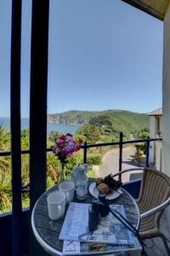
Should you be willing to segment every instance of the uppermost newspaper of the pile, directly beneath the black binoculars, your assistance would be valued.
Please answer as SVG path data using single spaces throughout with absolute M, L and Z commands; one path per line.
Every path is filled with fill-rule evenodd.
M 59 234 L 59 239 L 69 241 L 105 242 L 115 244 L 133 244 L 133 236 L 127 228 L 110 213 L 101 218 L 98 229 L 88 232 L 89 204 L 71 202 L 66 212 L 65 221 Z M 122 205 L 111 205 L 112 209 L 126 217 Z M 112 227 L 112 230 L 111 230 Z

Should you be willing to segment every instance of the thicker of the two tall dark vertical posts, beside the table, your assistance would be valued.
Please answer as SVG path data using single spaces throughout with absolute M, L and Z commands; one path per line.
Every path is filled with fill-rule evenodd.
M 30 207 L 46 190 L 49 0 L 32 1 L 30 86 Z M 31 222 L 30 222 L 31 223 Z M 47 255 L 30 227 L 30 256 Z

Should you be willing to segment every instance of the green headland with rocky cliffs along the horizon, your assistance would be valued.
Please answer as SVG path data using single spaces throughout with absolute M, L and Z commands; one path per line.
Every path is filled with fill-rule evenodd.
M 48 114 L 48 122 L 82 125 L 98 116 L 108 117 L 115 130 L 122 131 L 126 134 L 132 131 L 139 131 L 142 128 L 149 128 L 149 117 L 146 113 L 134 113 L 117 109 L 105 111 L 71 110 L 64 113 L 53 113 Z

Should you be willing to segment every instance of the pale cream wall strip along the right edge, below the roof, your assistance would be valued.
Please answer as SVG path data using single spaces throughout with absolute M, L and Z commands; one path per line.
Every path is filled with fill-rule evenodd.
M 164 20 L 162 88 L 162 172 L 170 176 L 170 5 Z

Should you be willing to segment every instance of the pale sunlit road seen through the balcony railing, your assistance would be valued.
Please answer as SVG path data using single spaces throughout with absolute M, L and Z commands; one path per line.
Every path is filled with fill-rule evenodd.
M 133 156 L 135 153 L 135 148 L 123 148 L 122 151 L 122 170 L 127 168 L 133 168 L 135 166 L 138 166 L 133 161 Z M 95 176 L 96 177 L 105 177 L 106 175 L 112 173 L 116 173 L 119 170 L 119 148 L 114 148 L 110 151 L 108 151 L 104 157 L 103 157 L 103 164 L 95 169 Z M 130 176 L 131 175 L 131 176 Z M 138 172 L 132 172 L 130 173 L 124 173 L 122 175 L 122 182 L 127 182 L 130 179 L 135 179 L 140 177 L 139 171 Z

